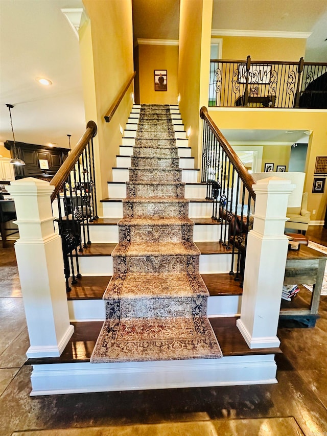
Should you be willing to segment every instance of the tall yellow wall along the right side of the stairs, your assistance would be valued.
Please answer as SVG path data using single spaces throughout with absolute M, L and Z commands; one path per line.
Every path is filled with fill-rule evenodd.
M 185 130 L 191 128 L 189 146 L 200 162 L 199 111 L 207 105 L 212 22 L 212 0 L 180 0 L 178 93 Z

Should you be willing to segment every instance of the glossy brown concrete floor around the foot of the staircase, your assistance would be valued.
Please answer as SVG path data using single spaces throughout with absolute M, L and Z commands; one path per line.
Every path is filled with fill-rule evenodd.
M 307 236 L 327 246 L 322 227 Z M 0 249 L 0 435 L 33 429 L 55 429 L 46 432 L 51 435 L 327 435 L 327 296 L 319 314 L 313 329 L 294 322 L 279 328 L 278 384 L 31 398 L 28 334 L 10 244 Z

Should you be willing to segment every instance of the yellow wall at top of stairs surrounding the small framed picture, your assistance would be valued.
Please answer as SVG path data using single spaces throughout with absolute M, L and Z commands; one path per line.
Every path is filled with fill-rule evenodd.
M 154 90 L 154 70 L 167 70 L 167 91 Z M 141 104 L 177 104 L 178 45 L 138 46 Z

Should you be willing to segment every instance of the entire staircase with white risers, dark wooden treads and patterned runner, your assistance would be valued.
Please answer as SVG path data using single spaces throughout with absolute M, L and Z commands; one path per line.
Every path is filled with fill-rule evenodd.
M 276 382 L 279 350 L 250 350 L 236 327 L 242 289 L 178 106 L 146 112 L 133 106 L 89 223 L 67 295 L 75 333 L 59 358 L 29 359 L 31 395 Z

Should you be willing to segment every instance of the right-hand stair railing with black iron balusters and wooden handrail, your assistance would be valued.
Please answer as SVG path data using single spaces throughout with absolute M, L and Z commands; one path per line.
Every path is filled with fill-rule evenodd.
M 219 242 L 232 255 L 229 274 L 242 285 L 255 181 L 204 106 L 200 117 L 204 121 L 201 182 L 207 185 L 206 199 L 212 201 L 212 218 L 221 222 Z

